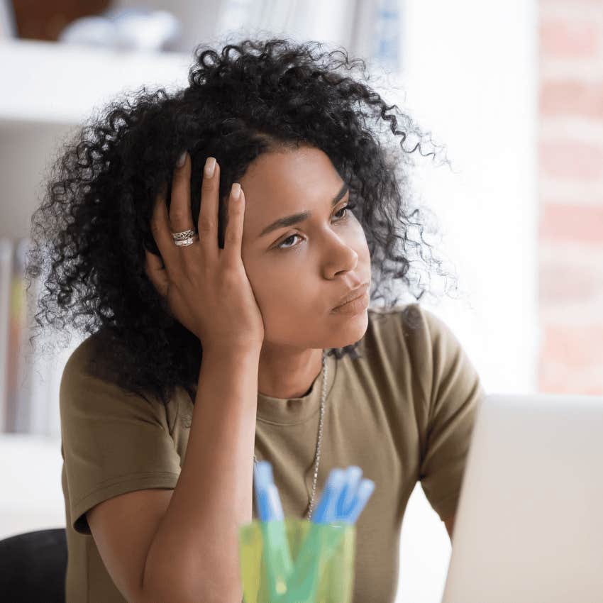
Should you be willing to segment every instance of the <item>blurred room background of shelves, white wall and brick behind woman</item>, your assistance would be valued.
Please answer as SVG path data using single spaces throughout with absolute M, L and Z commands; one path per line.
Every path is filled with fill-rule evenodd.
M 65 526 L 58 386 L 80 340 L 33 353 L 22 278 L 60 143 L 118 94 L 186 86 L 198 43 L 258 33 L 362 57 L 387 101 L 446 146 L 453 169 L 417 160 L 412 177 L 460 294 L 421 304 L 487 392 L 603 394 L 603 0 L 4 0 L 0 538 Z M 397 602 L 439 602 L 449 558 L 418 485 Z

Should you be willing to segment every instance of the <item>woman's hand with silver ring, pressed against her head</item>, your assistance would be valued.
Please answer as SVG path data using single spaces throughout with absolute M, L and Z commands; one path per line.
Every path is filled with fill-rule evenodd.
M 234 183 L 228 199 L 224 248 L 218 247 L 218 190 L 220 167 L 213 175 L 208 157 L 201 184 L 199 240 L 179 247 L 172 232 L 194 228 L 190 205 L 191 160 L 186 153 L 182 167 L 175 167 L 170 214 L 165 194 L 158 194 L 151 231 L 160 258 L 145 249 L 145 272 L 175 318 L 194 333 L 204 348 L 258 345 L 264 339 L 264 323 L 241 259 L 245 195 Z M 237 189 L 240 191 L 235 198 Z

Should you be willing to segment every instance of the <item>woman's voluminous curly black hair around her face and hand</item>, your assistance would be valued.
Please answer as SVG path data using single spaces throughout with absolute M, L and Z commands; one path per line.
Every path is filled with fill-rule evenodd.
M 169 192 L 183 150 L 192 159 L 193 216 L 206 157 L 221 165 L 220 248 L 223 201 L 250 162 L 269 150 L 313 145 L 350 187 L 370 249 L 372 300 L 397 304 L 397 279 L 417 300 L 423 296 L 419 272 L 410 272 L 413 250 L 446 276 L 441 260 L 424 253 L 431 251 L 426 225 L 410 202 L 410 154 L 436 153 L 424 154 L 426 135 L 367 84 L 364 60 L 350 60 L 341 47 L 282 38 L 245 39 L 221 52 L 199 45 L 194 59 L 186 88 L 126 94 L 60 149 L 32 216 L 25 270 L 26 280 L 45 275 L 31 340 L 45 325 L 102 336 L 106 374 L 164 404 L 178 385 L 192 392 L 202 358 L 199 339 L 169 314 L 144 270 L 145 248 L 160 255 L 150 231 L 153 201 Z M 419 142 L 406 149 L 409 135 Z M 414 227 L 420 240 L 411 236 Z M 358 343 L 329 353 L 356 358 Z

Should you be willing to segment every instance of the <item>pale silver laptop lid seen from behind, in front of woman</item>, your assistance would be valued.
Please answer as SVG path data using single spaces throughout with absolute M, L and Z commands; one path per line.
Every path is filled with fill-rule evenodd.
M 442 603 L 603 602 L 603 397 L 489 394 Z

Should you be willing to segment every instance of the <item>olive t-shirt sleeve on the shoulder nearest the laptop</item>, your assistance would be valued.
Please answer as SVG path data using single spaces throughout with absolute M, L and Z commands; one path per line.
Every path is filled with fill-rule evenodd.
M 421 487 L 440 519 L 456 514 L 477 411 L 485 397 L 475 367 L 453 331 L 422 309 L 431 339 L 431 394 Z

